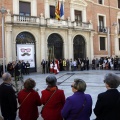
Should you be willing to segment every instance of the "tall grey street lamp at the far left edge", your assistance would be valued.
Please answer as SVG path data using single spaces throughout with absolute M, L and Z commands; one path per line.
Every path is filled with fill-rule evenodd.
M 5 31 L 4 31 L 4 14 L 7 12 L 7 10 L 2 6 L 0 9 L 0 12 L 2 14 L 2 54 L 3 54 L 3 73 L 5 73 Z

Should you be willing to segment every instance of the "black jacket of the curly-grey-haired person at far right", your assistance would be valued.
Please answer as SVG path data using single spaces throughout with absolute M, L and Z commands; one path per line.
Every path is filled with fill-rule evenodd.
M 100 93 L 94 108 L 96 120 L 120 120 L 120 93 L 109 89 Z

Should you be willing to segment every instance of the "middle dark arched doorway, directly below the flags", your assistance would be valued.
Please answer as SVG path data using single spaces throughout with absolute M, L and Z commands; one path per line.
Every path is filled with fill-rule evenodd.
M 48 59 L 63 58 L 63 40 L 59 34 L 53 33 L 48 37 Z

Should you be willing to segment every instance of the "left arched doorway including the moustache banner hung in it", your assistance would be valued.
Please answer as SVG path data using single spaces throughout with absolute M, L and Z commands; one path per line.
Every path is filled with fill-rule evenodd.
M 30 71 L 36 72 L 35 38 L 29 32 L 21 32 L 16 37 L 17 60 L 30 63 Z

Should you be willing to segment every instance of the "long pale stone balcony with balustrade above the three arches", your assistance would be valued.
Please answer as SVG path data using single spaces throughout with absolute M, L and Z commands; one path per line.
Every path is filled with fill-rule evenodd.
M 38 25 L 53 28 L 73 28 L 90 30 L 92 29 L 92 24 L 86 22 L 70 21 L 68 20 L 56 20 L 56 19 L 45 19 L 41 14 L 40 17 L 34 16 L 21 16 L 21 15 L 6 15 L 5 23 L 13 24 L 27 24 L 27 25 Z

